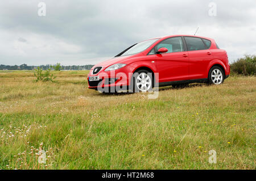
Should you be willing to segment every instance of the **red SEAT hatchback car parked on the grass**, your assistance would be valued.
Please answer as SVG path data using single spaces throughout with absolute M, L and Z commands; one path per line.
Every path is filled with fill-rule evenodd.
M 148 91 L 195 82 L 220 85 L 229 73 L 228 55 L 213 39 L 172 35 L 132 45 L 94 65 L 87 79 L 89 89 Z

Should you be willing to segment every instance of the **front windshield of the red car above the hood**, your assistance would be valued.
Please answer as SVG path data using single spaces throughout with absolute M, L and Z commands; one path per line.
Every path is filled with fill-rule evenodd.
M 157 40 L 159 40 L 159 39 L 151 39 L 151 40 L 142 41 L 140 43 L 137 43 L 137 44 L 127 48 L 123 52 L 119 53 L 117 56 L 125 56 L 128 54 L 135 54 L 135 53 L 142 52 L 143 50 L 150 47 L 150 45 L 155 43 L 155 41 L 157 41 Z

